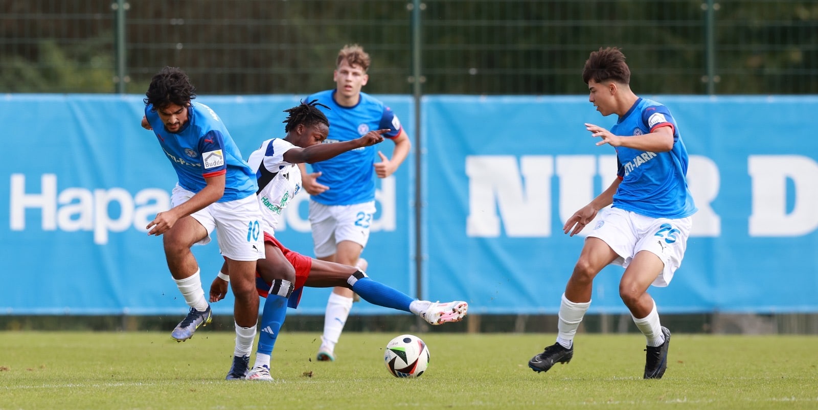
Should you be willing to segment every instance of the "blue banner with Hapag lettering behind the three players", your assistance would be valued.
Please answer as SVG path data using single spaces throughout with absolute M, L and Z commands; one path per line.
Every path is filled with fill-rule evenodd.
M 383 96 L 412 133 L 411 98 Z M 208 97 L 243 155 L 263 140 L 283 137 L 283 110 L 295 96 Z M 185 313 L 164 260 L 161 237 L 146 225 L 169 209 L 176 182 L 153 133 L 140 127 L 142 96 L 6 95 L 0 119 L 9 154 L 0 169 L 2 259 L 0 313 L 160 314 Z M 380 150 L 391 155 L 393 144 Z M 372 277 L 411 293 L 410 156 L 392 177 L 380 181 L 378 213 L 364 257 Z M 290 249 L 312 255 L 308 196 L 299 198 L 276 237 Z M 205 292 L 221 267 L 215 241 L 194 246 Z M 291 313 L 322 314 L 328 289 L 304 291 Z M 382 313 L 361 304 L 355 312 Z M 232 313 L 232 298 L 213 304 Z

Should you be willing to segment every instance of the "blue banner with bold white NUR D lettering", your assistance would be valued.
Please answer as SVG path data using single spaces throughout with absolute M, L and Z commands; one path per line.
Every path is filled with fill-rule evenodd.
M 690 154 L 694 215 L 660 313 L 818 310 L 816 97 L 651 97 Z M 613 148 L 587 97 L 425 97 L 426 288 L 473 313 L 556 313 L 582 235 L 564 221 L 613 182 Z M 596 278 L 591 313 L 624 313 L 622 268 Z

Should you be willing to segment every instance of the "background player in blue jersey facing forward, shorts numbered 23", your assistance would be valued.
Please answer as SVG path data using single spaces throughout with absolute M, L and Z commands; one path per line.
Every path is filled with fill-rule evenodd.
M 350 141 L 380 128 L 390 128 L 384 137 L 395 143 L 391 159 L 374 146 L 367 146 L 312 164 L 313 173 L 307 173 L 300 165 L 304 171 L 304 190 L 310 194 L 309 221 L 315 256 L 350 266 L 359 264 L 369 240 L 375 214 L 375 178 L 392 175 L 411 148 L 409 137 L 392 110 L 361 92 L 369 80 L 366 74 L 369 65 L 369 54 L 362 47 L 344 46 L 335 61 L 335 88 L 306 99 L 317 99 L 330 107 L 326 116 L 332 127 L 324 143 Z M 352 305 L 353 291 L 345 287 L 333 289 L 326 303 L 318 360 L 335 360 L 335 344 L 344 331 Z

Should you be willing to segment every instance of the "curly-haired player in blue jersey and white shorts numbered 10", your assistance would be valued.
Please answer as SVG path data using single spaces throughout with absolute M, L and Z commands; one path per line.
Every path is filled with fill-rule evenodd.
M 156 135 L 176 171 L 170 210 L 156 214 L 149 235 L 162 235 L 164 255 L 179 291 L 191 307 L 171 337 L 184 341 L 212 317 L 191 246 L 205 245 L 216 229 L 219 249 L 230 266 L 236 295 L 234 366 L 249 361 L 258 321 L 256 260 L 264 258 L 262 214 L 255 198 L 255 173 L 242 160 L 222 120 L 193 102 L 196 88 L 184 71 L 165 67 L 145 93 L 142 127 Z

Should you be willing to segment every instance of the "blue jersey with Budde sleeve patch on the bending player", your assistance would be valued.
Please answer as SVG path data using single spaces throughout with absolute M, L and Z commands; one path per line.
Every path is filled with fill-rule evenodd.
M 227 128 L 209 106 L 191 102 L 187 109 L 187 123 L 178 133 L 170 133 L 164 128 L 162 119 L 151 105 L 145 107 L 145 117 L 176 170 L 180 187 L 199 192 L 207 185 L 205 178 L 226 174 L 224 195 L 218 202 L 255 194 L 258 189 L 255 173 L 241 159 Z

